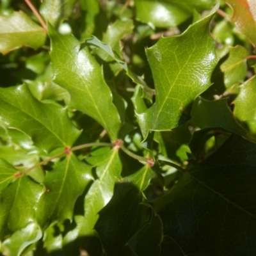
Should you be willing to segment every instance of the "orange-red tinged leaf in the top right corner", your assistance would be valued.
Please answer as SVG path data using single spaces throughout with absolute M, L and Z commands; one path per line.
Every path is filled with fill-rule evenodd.
M 238 31 L 256 44 L 256 3 L 253 0 L 227 0 L 233 10 L 232 20 Z

